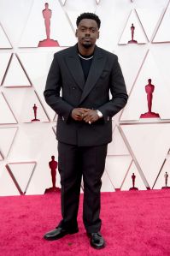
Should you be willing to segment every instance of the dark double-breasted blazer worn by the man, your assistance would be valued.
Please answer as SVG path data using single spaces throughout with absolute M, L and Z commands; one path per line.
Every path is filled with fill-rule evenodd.
M 78 146 L 107 144 L 112 140 L 112 116 L 126 105 L 128 98 L 118 57 L 96 45 L 85 81 L 77 45 L 56 52 L 44 98 L 58 114 L 57 140 Z M 74 121 L 71 112 L 78 107 L 100 110 L 103 118 L 91 124 Z

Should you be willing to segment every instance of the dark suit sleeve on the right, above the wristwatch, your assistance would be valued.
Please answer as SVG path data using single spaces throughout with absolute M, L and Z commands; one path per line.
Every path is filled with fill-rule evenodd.
M 105 122 L 108 122 L 109 117 L 114 116 L 124 108 L 128 98 L 125 80 L 121 72 L 120 64 L 118 63 L 118 57 L 116 57 L 111 71 L 110 92 L 112 98 L 106 104 L 98 108 L 98 110 L 103 113 Z

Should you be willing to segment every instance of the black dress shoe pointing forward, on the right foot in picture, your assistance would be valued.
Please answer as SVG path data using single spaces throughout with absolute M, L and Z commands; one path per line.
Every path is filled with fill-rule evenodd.
M 90 237 L 91 247 L 95 249 L 102 249 L 105 247 L 105 241 L 103 239 L 103 236 L 100 234 L 100 232 L 97 233 L 88 233 L 87 234 Z

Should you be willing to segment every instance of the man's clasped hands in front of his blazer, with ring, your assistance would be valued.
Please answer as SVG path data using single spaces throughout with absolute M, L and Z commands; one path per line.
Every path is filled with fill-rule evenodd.
M 72 118 L 75 121 L 96 122 L 99 119 L 96 110 L 76 108 L 72 110 Z

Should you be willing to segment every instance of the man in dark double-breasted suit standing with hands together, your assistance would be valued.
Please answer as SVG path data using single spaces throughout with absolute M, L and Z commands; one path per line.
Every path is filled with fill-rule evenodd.
M 44 238 L 56 240 L 79 231 L 83 176 L 83 221 L 91 247 L 100 249 L 105 246 L 99 217 L 101 177 L 112 140 L 112 116 L 125 106 L 127 94 L 117 57 L 95 45 L 98 16 L 84 13 L 76 24 L 78 44 L 55 54 L 44 91 L 46 102 L 58 114 L 56 139 L 62 185 L 62 221 Z

